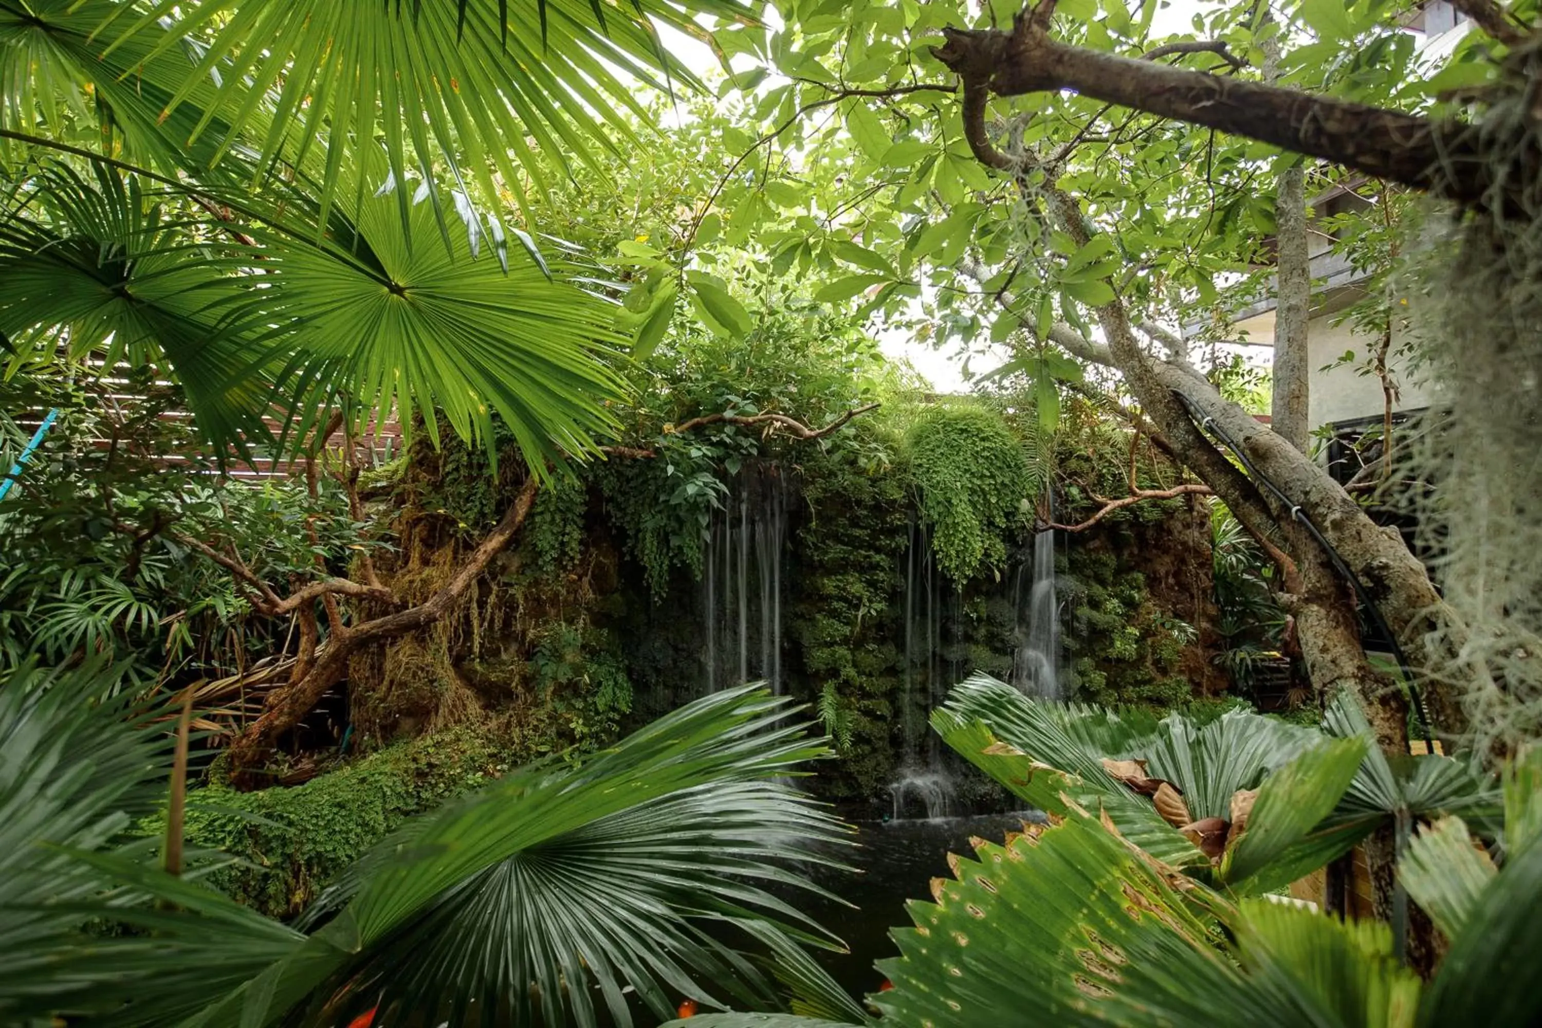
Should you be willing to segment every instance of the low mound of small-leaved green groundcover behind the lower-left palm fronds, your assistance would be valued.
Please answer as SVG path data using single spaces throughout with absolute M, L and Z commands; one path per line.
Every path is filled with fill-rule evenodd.
M 188 795 L 187 842 L 241 862 L 211 875 L 216 888 L 271 917 L 290 917 L 406 818 L 529 757 L 518 738 L 466 727 L 396 743 L 290 789 L 210 784 Z M 145 829 L 159 834 L 163 826 Z

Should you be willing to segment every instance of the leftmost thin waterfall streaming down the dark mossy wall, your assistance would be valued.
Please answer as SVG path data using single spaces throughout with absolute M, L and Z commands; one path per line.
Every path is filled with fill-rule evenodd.
M 706 692 L 763 680 L 782 694 L 785 550 L 785 482 L 774 467 L 746 467 L 702 536 Z

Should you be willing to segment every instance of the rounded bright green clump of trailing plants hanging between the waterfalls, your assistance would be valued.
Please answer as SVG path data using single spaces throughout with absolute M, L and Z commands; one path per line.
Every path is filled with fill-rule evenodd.
M 939 404 L 905 433 L 904 453 L 938 566 L 954 583 L 1007 559 L 1005 532 L 1032 510 L 1022 442 L 978 404 Z

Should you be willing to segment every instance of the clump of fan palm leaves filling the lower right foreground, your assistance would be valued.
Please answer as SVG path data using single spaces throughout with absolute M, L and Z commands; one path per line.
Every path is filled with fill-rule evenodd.
M 1372 814 L 1377 801 L 1366 797 L 1389 781 L 1386 761 L 1362 751 L 1368 729 L 1346 700 L 1326 726 L 1342 738 L 1317 746 L 1311 729 L 1271 727 L 1252 714 L 1224 715 L 1192 738 L 1177 715 L 1153 724 L 1030 701 L 985 680 L 956 690 L 934 720 L 964 755 L 1019 795 L 1047 798 L 1052 814 L 1004 845 L 978 842 L 973 860 L 951 860 L 954 877 L 933 883 L 933 902 L 910 905 L 914 928 L 893 932 L 901 956 L 880 962 L 893 989 L 870 997 L 880 1016 L 847 1023 L 975 1025 L 1035 1011 L 1089 1025 L 1434 1025 L 1463 1017 L 1474 1002 L 1493 1010 L 1494 1023 L 1537 1016 L 1534 991 L 1507 977 L 1534 932 L 1520 908 L 1542 866 L 1530 843 L 1536 751 L 1508 768 L 1502 788 L 1456 761 L 1419 758 L 1420 771 L 1400 775 L 1402 798 Z M 996 731 L 1035 757 L 993 741 Z M 1140 757 L 1099 757 L 1109 752 Z M 1362 752 L 1369 757 L 1357 769 Z M 1434 778 L 1453 783 L 1439 798 L 1406 784 Z M 1240 783 L 1257 786 L 1241 808 L 1232 791 Z M 1170 803 L 1231 814 L 1214 857 L 1201 860 L 1155 828 Z M 1400 879 L 1453 940 L 1428 983 L 1400 963 L 1385 923 L 1340 922 L 1268 892 L 1320 866 L 1345 832 L 1394 814 L 1406 823 L 1414 809 L 1423 828 L 1406 845 Z M 1499 869 L 1456 811 L 1502 845 Z M 1210 831 L 1175 835 L 1204 845 Z

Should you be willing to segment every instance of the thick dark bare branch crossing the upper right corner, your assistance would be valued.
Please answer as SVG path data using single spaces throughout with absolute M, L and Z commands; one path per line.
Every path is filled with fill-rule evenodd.
M 992 166 L 1001 165 L 992 157 L 988 140 L 975 131 L 971 109 L 982 114 L 992 92 L 1010 97 L 1075 89 L 1106 103 L 1257 139 L 1463 203 L 1482 203 L 1496 188 L 1479 134 L 1463 122 L 1069 46 L 1050 39 L 1047 22 L 1036 11 L 1019 15 L 1010 32 L 948 28 L 947 43 L 934 49 L 938 60 L 964 82 L 965 139 Z

